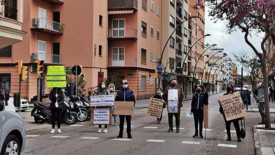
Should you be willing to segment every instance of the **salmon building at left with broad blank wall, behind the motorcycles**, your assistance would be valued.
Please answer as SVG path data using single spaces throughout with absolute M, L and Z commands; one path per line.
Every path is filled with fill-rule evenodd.
M 22 11 L 17 12 L 17 19 L 24 24 L 22 26 L 22 23 L 17 22 L 17 25 L 22 26 L 22 30 L 27 34 L 22 42 L 6 49 L 6 53 L 11 54 L 2 56 L 0 62 L 1 74 L 7 74 L 11 79 L 11 93 L 19 91 L 19 75 L 15 69 L 15 61 L 19 59 L 23 60 L 23 65 L 28 66 L 28 77 L 22 81 L 21 96 L 29 100 L 37 95 L 38 59 L 45 60 L 45 66 L 65 65 L 68 76 L 72 75 L 73 65 L 82 65 L 82 73 L 85 74 L 87 81 L 86 89 L 98 85 L 99 81 L 107 78 L 107 1 L 82 0 L 82 3 L 76 3 L 71 0 L 14 0 L 13 2 L 18 4 L 17 8 L 21 7 L 20 10 L 24 9 L 24 16 L 18 14 Z M 47 73 L 47 67 L 44 71 Z M 50 90 L 47 88 L 46 76 L 45 74 L 40 80 L 41 95 L 47 94 Z

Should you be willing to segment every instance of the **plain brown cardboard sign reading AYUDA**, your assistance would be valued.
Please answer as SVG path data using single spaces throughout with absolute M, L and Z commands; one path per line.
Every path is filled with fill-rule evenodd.
M 134 102 L 115 101 L 114 115 L 133 115 Z

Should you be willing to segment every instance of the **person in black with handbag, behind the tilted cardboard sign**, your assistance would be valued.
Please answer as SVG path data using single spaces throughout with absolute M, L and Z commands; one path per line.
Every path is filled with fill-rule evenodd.
M 227 93 L 225 93 L 223 95 L 232 94 L 234 92 L 232 84 L 228 84 L 226 86 L 226 91 L 227 91 Z M 225 118 L 223 109 L 222 109 L 222 105 L 220 105 L 219 111 L 222 114 L 224 121 L 225 121 L 225 127 L 226 127 L 226 132 L 227 132 L 227 141 L 231 141 L 230 126 L 231 126 L 231 122 L 233 122 L 233 125 L 236 130 L 236 134 L 237 134 L 237 141 L 242 142 L 241 137 L 240 137 L 240 125 L 239 125 L 239 121 L 242 120 L 242 117 L 227 121 Z

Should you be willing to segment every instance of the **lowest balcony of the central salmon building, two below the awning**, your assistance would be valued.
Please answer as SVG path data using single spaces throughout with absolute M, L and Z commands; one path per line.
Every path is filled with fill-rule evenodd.
M 136 58 L 108 58 L 107 67 L 137 67 Z

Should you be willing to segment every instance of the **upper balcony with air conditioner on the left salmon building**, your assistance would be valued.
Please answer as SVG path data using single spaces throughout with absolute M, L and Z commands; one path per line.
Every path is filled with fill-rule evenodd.
M 63 24 L 46 18 L 32 18 L 31 29 L 37 32 L 52 35 L 63 34 Z

